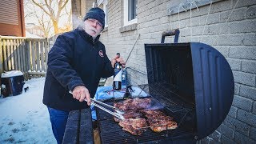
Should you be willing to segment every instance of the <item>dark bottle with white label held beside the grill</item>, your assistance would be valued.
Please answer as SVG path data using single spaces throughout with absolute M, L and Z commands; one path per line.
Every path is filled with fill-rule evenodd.
M 118 58 L 120 54 L 117 53 Z M 121 90 L 122 83 L 122 65 L 120 62 L 114 64 L 114 79 L 113 79 L 113 90 Z

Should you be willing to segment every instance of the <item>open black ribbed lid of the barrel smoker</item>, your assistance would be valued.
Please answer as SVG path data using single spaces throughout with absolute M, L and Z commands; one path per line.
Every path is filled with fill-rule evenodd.
M 226 118 L 234 98 L 234 78 L 226 58 L 200 42 L 145 44 L 145 52 L 149 86 L 166 81 L 168 74 L 164 70 L 176 73 L 170 86 L 176 95 L 171 97 L 183 97 L 193 103 L 195 138 L 212 134 Z M 166 65 L 170 68 L 163 68 Z

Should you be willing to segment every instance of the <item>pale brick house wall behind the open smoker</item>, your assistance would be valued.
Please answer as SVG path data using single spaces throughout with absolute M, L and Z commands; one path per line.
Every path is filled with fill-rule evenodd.
M 130 83 L 136 85 L 147 83 L 143 74 L 146 73 L 144 43 L 159 43 L 162 31 L 179 28 L 179 42 L 213 46 L 226 57 L 233 70 L 234 102 L 218 130 L 198 143 L 256 143 L 256 1 L 215 2 L 209 15 L 210 5 L 201 6 L 191 11 L 191 19 L 190 10 L 169 16 L 170 2 L 138 0 L 138 23 L 133 30 L 132 26 L 122 26 L 122 1 L 109 0 L 109 26 L 101 37 L 108 56 L 112 58 L 119 52 L 127 58 L 140 34 L 126 65 L 135 69 L 128 73 Z M 166 42 L 173 41 L 174 38 L 166 38 Z

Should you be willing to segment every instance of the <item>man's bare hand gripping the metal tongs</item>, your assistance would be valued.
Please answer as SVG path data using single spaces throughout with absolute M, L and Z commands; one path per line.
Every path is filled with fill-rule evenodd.
M 79 102 L 83 102 L 86 99 L 87 105 L 90 106 L 90 93 L 86 86 L 75 86 L 72 94 L 73 98 L 76 98 Z

